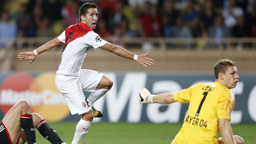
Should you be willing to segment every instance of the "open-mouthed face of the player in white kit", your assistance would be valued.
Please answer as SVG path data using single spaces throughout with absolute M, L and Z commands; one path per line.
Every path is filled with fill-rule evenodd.
M 98 20 L 98 10 L 96 8 L 89 8 L 85 16 L 85 24 L 91 29 L 95 29 Z

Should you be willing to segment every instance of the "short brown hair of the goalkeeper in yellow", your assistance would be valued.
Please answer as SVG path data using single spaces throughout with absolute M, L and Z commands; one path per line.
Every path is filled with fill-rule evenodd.
M 228 66 L 235 66 L 235 63 L 230 59 L 220 59 L 214 65 L 215 78 L 218 79 L 220 72 L 225 73 Z

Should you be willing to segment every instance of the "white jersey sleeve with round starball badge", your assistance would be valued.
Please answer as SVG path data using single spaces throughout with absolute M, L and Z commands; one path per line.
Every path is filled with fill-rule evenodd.
M 97 33 L 90 31 L 88 32 L 83 39 L 85 44 L 91 45 L 94 48 L 98 48 L 107 43 L 107 41 L 103 40 Z

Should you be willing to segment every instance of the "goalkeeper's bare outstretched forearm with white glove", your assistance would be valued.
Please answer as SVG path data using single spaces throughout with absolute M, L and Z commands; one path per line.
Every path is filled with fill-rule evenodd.
M 139 102 L 145 103 L 160 103 L 160 104 L 171 104 L 176 102 L 172 93 L 161 93 L 152 95 L 148 89 L 142 88 L 139 92 Z

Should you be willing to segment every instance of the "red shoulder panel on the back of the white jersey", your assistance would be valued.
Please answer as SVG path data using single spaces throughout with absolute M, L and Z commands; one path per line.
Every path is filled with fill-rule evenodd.
M 85 23 L 77 23 L 69 26 L 65 31 L 65 44 L 63 51 L 66 49 L 67 45 L 75 40 L 76 38 L 86 35 L 89 31 L 92 31 Z

